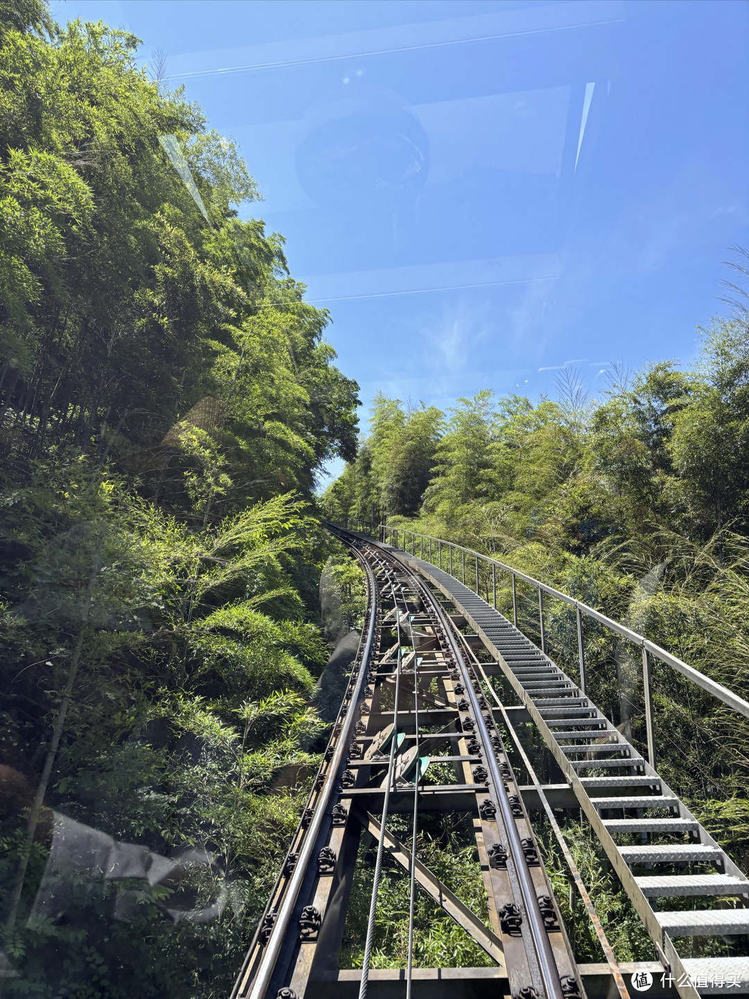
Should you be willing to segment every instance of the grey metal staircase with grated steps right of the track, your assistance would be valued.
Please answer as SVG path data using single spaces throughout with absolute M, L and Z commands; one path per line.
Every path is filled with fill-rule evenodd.
M 746 875 L 548 655 L 448 572 L 389 550 L 430 580 L 495 656 L 643 920 L 670 984 L 685 999 L 749 992 L 749 956 L 682 958 L 673 940 L 708 937 L 706 949 L 725 951 L 738 948 L 723 937 L 744 936 L 749 953 Z

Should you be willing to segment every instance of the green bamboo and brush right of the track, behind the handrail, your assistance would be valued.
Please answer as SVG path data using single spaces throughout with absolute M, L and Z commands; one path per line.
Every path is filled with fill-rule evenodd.
M 746 697 L 749 315 L 741 301 L 701 331 L 694 367 L 619 370 L 598 400 L 571 372 L 556 399 L 535 404 L 484 391 L 442 414 L 379 396 L 356 462 L 326 493 L 330 515 L 386 518 L 494 554 Z M 511 606 L 506 576 L 498 582 L 498 603 Z M 521 594 L 520 609 L 534 633 L 534 593 Z M 552 654 L 574 672 L 574 612 L 551 600 L 546 610 Z M 590 622 L 586 629 L 591 692 L 642 745 L 639 651 Z M 745 719 L 667 667 L 655 666 L 654 682 L 661 772 L 746 865 Z

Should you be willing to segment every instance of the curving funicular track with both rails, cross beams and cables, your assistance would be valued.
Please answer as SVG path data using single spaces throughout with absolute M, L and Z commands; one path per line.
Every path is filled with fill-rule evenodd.
M 365 627 L 324 761 L 233 999 L 581 999 L 580 976 L 477 660 L 413 567 L 363 535 L 335 532 L 367 575 Z M 430 762 L 450 764 L 455 782 L 423 782 Z M 488 926 L 415 856 L 418 816 L 435 811 L 470 817 Z M 394 813 L 412 815 L 410 843 L 387 830 Z M 365 831 L 377 852 L 364 967 L 340 969 Z M 407 967 L 394 970 L 370 968 L 385 855 L 410 878 Z M 412 968 L 416 886 L 489 955 L 492 967 Z

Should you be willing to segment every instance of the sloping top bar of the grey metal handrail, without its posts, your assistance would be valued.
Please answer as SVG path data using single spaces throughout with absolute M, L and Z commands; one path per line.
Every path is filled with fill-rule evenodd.
M 387 524 L 378 524 L 377 530 L 381 530 L 382 539 L 386 532 L 395 532 L 395 544 L 393 547 L 397 548 L 397 532 L 400 531 L 405 535 L 406 530 L 402 527 L 390 527 Z M 411 534 L 413 538 L 428 538 L 428 534 L 420 534 L 416 531 L 409 530 L 407 533 Z M 516 579 L 521 579 L 523 582 L 529 583 L 531 586 L 535 586 L 540 593 L 548 593 L 549 596 L 554 597 L 554 599 L 561 600 L 562 603 L 566 603 L 569 606 L 575 607 L 580 614 L 584 614 L 591 620 L 597 621 L 599 624 L 603 624 L 604 627 L 608 628 L 609 631 L 620 635 L 622 638 L 626 638 L 627 641 L 633 642 L 638 645 L 645 652 L 650 655 L 655 656 L 656 659 L 660 659 L 666 665 L 671 666 L 677 672 L 681 673 L 687 679 L 691 680 L 697 686 L 702 687 L 708 693 L 712 694 L 717 700 L 722 701 L 727 707 L 733 708 L 734 711 L 738 711 L 739 714 L 743 714 L 745 717 L 749 718 L 749 701 L 740 697 L 738 694 L 734 693 L 733 690 L 729 690 L 728 687 L 719 683 L 717 680 L 712 679 L 710 676 L 706 676 L 701 673 L 699 669 L 695 669 L 694 666 L 690 666 L 683 659 L 678 658 L 678 656 L 673 655 L 673 653 L 667 651 L 661 645 L 656 642 L 651 641 L 649 638 L 645 638 L 644 635 L 638 634 L 636 631 L 632 631 L 625 624 L 620 624 L 618 621 L 613 620 L 613 618 L 608 617 L 606 614 L 601 613 L 600 610 L 596 610 L 594 607 L 589 606 L 587 603 L 583 603 L 582 600 L 575 599 L 574 596 L 570 596 L 568 593 L 563 593 L 559 589 L 555 589 L 553 586 L 549 586 L 548 583 L 541 582 L 540 579 L 534 579 L 532 575 L 527 575 L 525 572 L 521 572 L 519 569 L 513 568 L 511 565 L 507 565 L 505 562 L 499 561 L 498 558 L 492 558 L 490 555 L 482 554 L 480 551 L 474 551 L 473 548 L 467 548 L 462 544 L 457 544 L 455 541 L 448 541 L 444 538 L 431 538 L 432 540 L 439 541 L 441 544 L 446 544 L 449 546 L 450 550 L 455 548 L 457 551 L 462 552 L 463 564 L 466 554 L 471 555 L 473 558 L 480 559 L 489 565 L 494 565 L 504 572 L 509 572 L 512 575 L 513 580 L 513 591 L 514 591 L 514 581 Z M 407 550 L 403 547 L 401 550 Z M 452 573 L 450 573 L 452 574 Z M 464 574 L 464 573 L 463 573 Z M 463 579 L 464 581 L 464 579 Z M 514 592 L 513 592 L 514 596 Z M 513 609 L 515 601 L 513 599 Z M 542 627 L 541 618 L 541 627 Z

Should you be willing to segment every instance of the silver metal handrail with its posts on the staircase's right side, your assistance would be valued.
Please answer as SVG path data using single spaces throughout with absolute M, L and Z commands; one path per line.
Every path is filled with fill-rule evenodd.
M 394 540 L 393 547 L 398 547 L 398 534 L 403 536 L 403 546 L 401 550 L 407 552 L 406 536 L 410 535 L 411 547 L 415 553 L 416 540 L 419 541 L 421 557 L 423 557 L 423 547 L 424 542 L 428 541 L 429 555 L 432 554 L 432 542 L 437 545 L 437 554 L 439 559 L 439 567 L 442 566 L 442 546 L 446 545 L 449 551 L 450 559 L 450 574 L 452 570 L 452 552 L 459 551 L 461 553 L 461 564 L 462 564 L 462 578 L 465 581 L 465 556 L 469 555 L 475 559 L 476 563 L 476 580 L 478 580 L 478 562 L 479 560 L 485 562 L 487 565 L 492 567 L 492 589 L 493 589 L 493 606 L 496 609 L 496 570 L 501 569 L 504 572 L 509 572 L 512 579 L 512 616 L 513 621 L 517 624 L 517 594 L 516 594 L 516 580 L 521 579 L 523 582 L 529 583 L 531 586 L 535 586 L 538 590 L 538 611 L 539 611 L 539 626 L 541 632 L 541 648 L 545 651 L 545 629 L 543 620 L 543 594 L 546 593 L 549 596 L 554 597 L 554 599 L 561 600 L 563 603 L 569 604 L 575 608 L 576 618 L 577 618 L 577 651 L 578 651 L 578 661 L 580 666 L 580 689 L 585 693 L 585 654 L 583 646 L 583 634 L 582 634 L 582 616 L 589 617 L 591 620 L 597 621 L 599 624 L 603 624 L 608 630 L 613 631 L 615 634 L 620 635 L 622 638 L 626 638 L 627 641 L 633 642 L 638 645 L 642 652 L 642 674 L 643 674 L 643 684 L 644 684 L 644 694 L 645 694 L 645 726 L 647 733 L 647 745 L 648 745 L 648 756 L 651 766 L 655 766 L 655 738 L 653 732 L 653 711 L 652 711 L 652 689 L 651 689 L 651 665 L 650 656 L 660 660 L 666 665 L 671 666 L 677 672 L 681 673 L 692 683 L 696 683 L 697 686 L 702 687 L 708 693 L 712 694 L 717 700 L 720 700 L 727 707 L 732 708 L 734 711 L 738 711 L 739 714 L 743 714 L 744 717 L 749 718 L 749 701 L 740 697 L 738 694 L 729 690 L 728 687 L 723 686 L 722 683 L 718 683 L 717 680 L 711 679 L 711 677 L 706 676 L 701 673 L 699 669 L 695 669 L 694 666 L 690 666 L 688 663 L 684 662 L 678 656 L 673 655 L 668 652 L 665 648 L 662 648 L 654 641 L 650 641 L 649 638 L 645 638 L 644 635 L 638 634 L 631 628 L 626 627 L 624 624 L 620 624 L 618 621 L 613 620 L 611 617 L 607 617 L 606 614 L 596 610 L 594 607 L 588 606 L 587 603 L 583 603 L 582 600 L 577 600 L 573 596 L 569 596 L 568 593 L 563 593 L 559 589 L 555 589 L 553 586 L 549 586 L 545 582 L 541 582 L 540 579 L 534 579 L 532 575 L 527 575 L 525 572 L 521 572 L 519 569 L 513 568 L 511 565 L 507 565 L 505 562 L 499 561 L 497 558 L 491 558 L 489 555 L 484 555 L 480 551 L 475 551 L 473 548 L 467 548 L 462 544 L 457 544 L 455 541 L 448 541 L 440 537 L 432 537 L 429 534 L 421 534 L 418 531 L 408 530 L 405 527 L 392 527 L 385 523 L 376 524 L 374 521 L 367 520 L 357 520 L 364 532 L 364 528 L 369 526 L 371 536 L 378 536 L 382 542 L 387 541 L 388 535 L 390 539 Z M 349 523 L 349 518 L 347 518 L 347 523 Z M 394 535 L 394 536 L 393 536 Z M 431 561 L 431 557 L 429 557 Z M 476 587 L 477 591 L 477 587 Z

